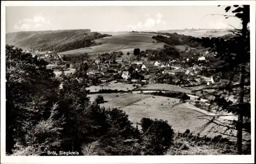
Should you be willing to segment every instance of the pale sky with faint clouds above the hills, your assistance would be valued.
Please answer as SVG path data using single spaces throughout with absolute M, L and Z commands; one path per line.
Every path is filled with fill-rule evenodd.
M 211 15 L 232 15 L 224 9 L 225 6 L 11 6 L 6 7 L 6 33 L 67 29 L 115 32 L 241 27 L 238 18 Z

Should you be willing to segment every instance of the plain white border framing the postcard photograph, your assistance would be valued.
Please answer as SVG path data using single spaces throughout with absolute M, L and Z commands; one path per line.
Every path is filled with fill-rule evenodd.
M 1 163 L 254 163 L 253 155 L 194 156 L 6 156 L 5 155 L 5 7 L 6 6 L 211 6 L 250 5 L 251 140 L 254 154 L 255 1 L 9 1 L 1 2 Z

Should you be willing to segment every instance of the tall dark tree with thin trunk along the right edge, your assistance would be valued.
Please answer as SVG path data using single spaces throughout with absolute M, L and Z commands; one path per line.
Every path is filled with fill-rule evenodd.
M 234 29 L 233 33 L 235 35 L 226 40 L 221 37 L 211 39 L 202 37 L 201 39 L 196 40 L 205 48 L 210 48 L 210 52 L 214 52 L 216 57 L 224 61 L 216 66 L 218 72 L 240 74 L 238 85 L 232 84 L 231 81 L 233 81 L 234 76 L 229 76 L 229 83 L 225 86 L 218 86 L 216 90 L 217 92 L 222 91 L 223 94 L 238 96 L 238 103 L 233 103 L 222 108 L 222 110 L 238 115 L 238 121 L 232 121 L 231 123 L 225 124 L 222 123 L 222 126 L 226 129 L 237 131 L 238 153 L 243 154 L 243 131 L 250 133 L 250 102 L 249 99 L 245 100 L 246 96 L 249 95 L 249 90 L 244 88 L 245 84 L 249 84 L 248 82 L 245 82 L 245 77 L 250 76 L 250 31 L 248 29 L 250 7 L 249 5 L 228 6 L 225 8 L 226 12 L 231 10 L 231 8 L 233 8 L 232 13 L 234 13 L 234 15 L 231 16 L 241 20 L 242 29 Z M 226 18 L 230 17 L 230 15 L 224 16 Z M 224 131 L 223 133 L 227 134 L 226 132 L 227 131 Z

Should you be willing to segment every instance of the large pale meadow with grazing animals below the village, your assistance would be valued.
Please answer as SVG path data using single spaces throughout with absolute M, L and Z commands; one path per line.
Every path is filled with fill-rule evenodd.
M 167 120 L 174 130 L 184 132 L 186 129 L 193 130 L 206 123 L 205 120 L 197 118 L 202 115 L 200 112 L 188 108 L 186 104 L 179 104 L 179 99 L 160 96 L 152 98 L 150 95 L 133 93 L 104 93 L 90 95 L 91 101 L 98 95 L 102 95 L 106 101 L 100 106 L 121 108 L 134 124 L 143 117 L 157 118 Z

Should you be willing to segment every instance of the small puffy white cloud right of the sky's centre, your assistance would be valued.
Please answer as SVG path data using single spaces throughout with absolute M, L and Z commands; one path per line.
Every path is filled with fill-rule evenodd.
M 166 21 L 162 20 L 161 18 L 163 17 L 163 15 L 161 13 L 157 13 L 156 14 L 156 19 L 149 17 L 150 14 L 146 13 L 145 16 L 147 16 L 148 18 L 146 18 L 144 24 L 140 22 L 138 22 L 138 24 L 130 24 L 127 26 L 127 28 L 130 29 L 139 29 L 139 28 L 146 28 L 146 29 L 151 29 L 152 27 L 154 27 L 157 24 L 161 24 L 161 25 L 165 25 Z

